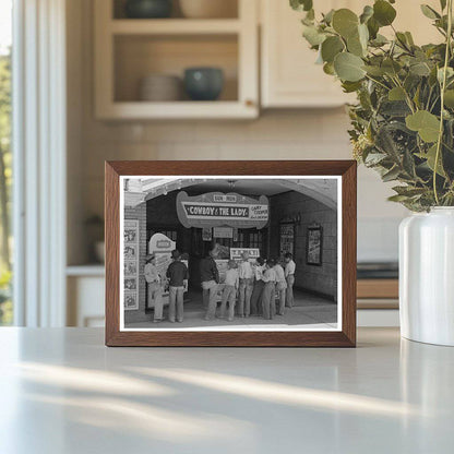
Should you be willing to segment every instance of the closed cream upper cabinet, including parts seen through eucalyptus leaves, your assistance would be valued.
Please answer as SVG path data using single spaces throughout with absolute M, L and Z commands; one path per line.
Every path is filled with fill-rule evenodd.
M 315 11 L 349 8 L 362 11 L 368 0 L 319 0 Z M 437 10 L 438 0 L 426 2 Z M 422 14 L 419 4 L 401 1 L 395 27 L 410 31 L 416 44 L 440 41 L 441 35 Z M 302 38 L 300 19 L 303 13 L 291 10 L 288 1 L 261 0 L 261 99 L 264 108 L 336 107 L 355 99 L 346 95 L 339 82 L 315 64 L 316 52 Z M 391 27 L 381 33 L 390 36 Z

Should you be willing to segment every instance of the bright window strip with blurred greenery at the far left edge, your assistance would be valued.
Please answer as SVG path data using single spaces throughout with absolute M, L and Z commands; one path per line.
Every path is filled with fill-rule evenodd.
M 13 322 L 11 292 L 12 0 L 0 0 L 0 325 Z

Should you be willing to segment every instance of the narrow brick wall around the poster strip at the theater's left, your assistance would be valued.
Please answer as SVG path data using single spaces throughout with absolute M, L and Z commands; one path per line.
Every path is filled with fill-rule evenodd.
M 124 324 L 142 322 L 150 319 L 145 315 L 146 283 L 143 274 L 146 255 L 146 203 L 139 206 L 124 207 L 124 219 L 139 219 L 139 309 L 124 311 Z

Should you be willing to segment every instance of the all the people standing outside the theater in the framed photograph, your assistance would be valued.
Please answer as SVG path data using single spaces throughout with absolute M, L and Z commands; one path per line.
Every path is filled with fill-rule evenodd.
M 248 252 L 242 253 L 239 263 L 229 260 L 218 318 L 232 321 L 235 315 L 239 318 L 258 315 L 271 320 L 276 313 L 284 315 L 285 307 L 294 306 L 295 270 L 291 253 L 286 253 L 283 262 L 258 258 L 255 263 L 252 263 Z M 153 254 L 147 256 L 144 274 L 148 300 L 154 300 L 153 321 L 160 322 L 164 309 L 164 276 L 159 275 L 156 258 Z M 169 284 L 168 320 L 181 323 L 183 321 L 183 294 L 188 289 L 189 272 L 177 250 L 172 252 L 172 262 L 167 268 L 166 278 Z M 201 262 L 201 280 L 207 307 L 205 320 L 213 320 L 216 316 L 219 289 L 219 274 L 213 254 Z

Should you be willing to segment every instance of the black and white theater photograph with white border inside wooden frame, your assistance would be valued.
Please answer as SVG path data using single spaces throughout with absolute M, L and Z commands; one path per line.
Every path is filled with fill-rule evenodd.
M 339 331 L 339 187 L 122 177 L 121 330 Z

